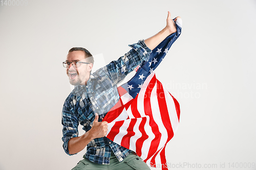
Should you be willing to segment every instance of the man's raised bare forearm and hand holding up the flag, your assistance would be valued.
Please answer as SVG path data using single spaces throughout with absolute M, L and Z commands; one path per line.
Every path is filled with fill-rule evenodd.
M 177 18 L 180 18 L 180 16 L 175 18 L 175 21 Z M 155 47 L 157 47 L 158 44 L 160 44 L 168 35 L 175 33 L 177 31 L 175 27 L 175 23 L 173 22 L 172 18 L 170 18 L 170 12 L 168 11 L 167 19 L 166 19 L 166 27 L 157 33 L 156 35 L 145 39 L 145 44 L 150 50 L 153 50 Z

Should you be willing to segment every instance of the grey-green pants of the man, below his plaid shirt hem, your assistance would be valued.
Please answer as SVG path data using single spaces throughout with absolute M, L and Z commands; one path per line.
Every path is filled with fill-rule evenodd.
M 79 161 L 79 163 L 72 170 L 134 170 L 141 169 L 146 170 L 150 169 L 147 164 L 135 153 L 130 153 L 124 160 L 121 162 L 118 161 L 115 154 L 111 152 L 110 164 L 103 165 L 89 161 L 84 158 Z

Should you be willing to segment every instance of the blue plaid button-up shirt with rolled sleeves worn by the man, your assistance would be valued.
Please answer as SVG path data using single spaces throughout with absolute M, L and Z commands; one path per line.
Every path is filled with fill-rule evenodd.
M 101 122 L 106 113 L 118 102 L 117 83 L 125 78 L 142 61 L 147 61 L 151 54 L 144 40 L 129 45 L 128 53 L 116 61 L 98 69 L 91 74 L 86 86 L 75 86 L 69 94 L 62 109 L 63 149 L 69 154 L 68 142 L 78 136 L 78 124 L 84 131 L 92 128 L 95 113 L 99 114 Z M 131 150 L 111 141 L 106 137 L 95 138 L 87 145 L 87 152 L 83 157 L 99 164 L 109 164 L 111 150 L 119 161 L 131 153 Z

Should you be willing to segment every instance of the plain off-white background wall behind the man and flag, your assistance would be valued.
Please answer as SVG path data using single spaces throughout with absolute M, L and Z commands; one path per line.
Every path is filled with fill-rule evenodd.
M 244 167 L 256 163 L 255 1 L 1 3 L 1 170 L 74 167 L 85 151 L 68 156 L 62 149 L 70 85 L 61 62 L 68 50 L 83 46 L 109 63 L 130 50 L 127 44 L 164 28 L 167 11 L 183 20 L 156 70 L 181 107 L 167 162 L 191 166 L 180 169 L 256 169 Z

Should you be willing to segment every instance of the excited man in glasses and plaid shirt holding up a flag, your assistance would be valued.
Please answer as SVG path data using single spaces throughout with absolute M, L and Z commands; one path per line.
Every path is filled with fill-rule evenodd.
M 143 60 L 147 61 L 152 50 L 174 32 L 176 27 L 168 12 L 162 31 L 130 45 L 132 50 L 93 74 L 91 53 L 82 47 L 70 49 L 63 66 L 75 88 L 62 109 L 63 148 L 73 155 L 87 146 L 84 159 L 73 169 L 150 169 L 136 153 L 106 138 L 108 123 L 101 121 L 119 99 L 117 83 Z M 81 136 L 79 123 L 86 131 Z

